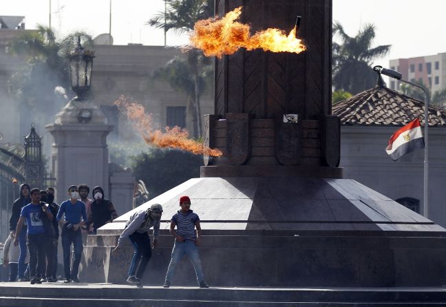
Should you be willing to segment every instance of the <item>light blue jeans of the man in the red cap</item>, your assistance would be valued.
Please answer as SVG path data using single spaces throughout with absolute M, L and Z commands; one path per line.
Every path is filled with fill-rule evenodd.
M 184 255 L 189 257 L 189 260 L 193 265 L 193 269 L 197 275 L 197 282 L 200 283 L 204 281 L 198 247 L 195 245 L 195 241 L 187 240 L 185 242 L 175 242 L 175 244 L 173 244 L 172 258 L 169 268 L 167 268 L 166 282 L 172 281 L 172 277 L 175 274 L 175 268 Z

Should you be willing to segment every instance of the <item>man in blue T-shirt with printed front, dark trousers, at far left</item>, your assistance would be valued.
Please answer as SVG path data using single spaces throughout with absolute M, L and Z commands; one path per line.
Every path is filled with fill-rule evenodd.
M 21 210 L 14 245 L 19 245 L 20 233 L 26 220 L 28 222 L 26 244 L 30 252 L 30 283 L 41 284 L 40 278 L 36 276 L 36 266 L 39 265 L 40 268 L 45 266 L 45 242 L 46 240 L 50 240 L 45 235 L 43 214 L 47 216 L 48 220 L 52 220 L 53 216 L 47 209 L 46 204 L 40 201 L 41 195 L 39 189 L 32 189 L 30 194 L 32 202 Z

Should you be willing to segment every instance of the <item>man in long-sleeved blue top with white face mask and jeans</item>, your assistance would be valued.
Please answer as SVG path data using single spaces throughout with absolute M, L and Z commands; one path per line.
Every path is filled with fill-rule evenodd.
M 68 188 L 68 195 L 70 195 L 70 199 L 62 202 L 56 219 L 59 222 L 62 215 L 65 214 L 65 220 L 62 222 L 64 282 L 79 282 L 78 271 L 83 251 L 81 226 L 87 220 L 87 212 L 85 211 L 85 204 L 78 200 L 78 188 L 75 185 Z M 74 246 L 74 262 L 70 270 L 72 244 Z

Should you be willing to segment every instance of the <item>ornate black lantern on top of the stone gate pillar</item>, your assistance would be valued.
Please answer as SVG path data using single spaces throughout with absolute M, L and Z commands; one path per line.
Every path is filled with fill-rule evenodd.
M 70 82 L 78 100 L 85 99 L 85 93 L 92 84 L 92 67 L 94 51 L 85 50 L 81 45 L 81 36 L 74 52 L 68 57 L 70 67 Z

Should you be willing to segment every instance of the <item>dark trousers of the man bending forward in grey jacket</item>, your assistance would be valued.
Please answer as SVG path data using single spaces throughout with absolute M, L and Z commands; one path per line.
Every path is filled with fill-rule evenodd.
M 135 232 L 129 235 L 129 239 L 135 250 L 129 268 L 129 276 L 136 276 L 141 279 L 151 257 L 150 237 L 147 233 Z

